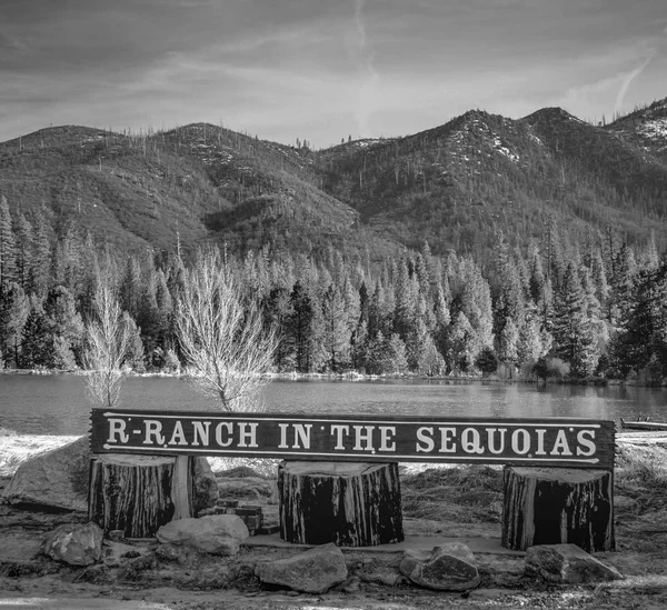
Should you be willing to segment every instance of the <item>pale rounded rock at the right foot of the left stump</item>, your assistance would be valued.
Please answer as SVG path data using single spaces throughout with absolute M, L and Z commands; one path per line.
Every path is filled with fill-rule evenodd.
M 233 556 L 248 538 L 248 528 L 236 514 L 210 514 L 199 519 L 179 519 L 162 526 L 156 538 L 168 544 L 200 552 Z

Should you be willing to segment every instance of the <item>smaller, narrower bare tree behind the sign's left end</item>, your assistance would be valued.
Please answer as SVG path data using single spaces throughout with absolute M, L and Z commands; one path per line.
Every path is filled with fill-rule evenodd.
M 88 394 L 94 404 L 113 408 L 122 384 L 122 366 L 130 334 L 122 319 L 110 273 L 100 272 L 91 320 L 86 324 L 83 364 Z

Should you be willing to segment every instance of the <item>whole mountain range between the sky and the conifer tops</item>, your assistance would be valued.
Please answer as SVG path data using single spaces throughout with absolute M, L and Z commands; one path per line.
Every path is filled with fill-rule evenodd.
M 13 213 L 112 248 L 215 241 L 381 259 L 428 241 L 488 257 L 556 223 L 573 243 L 611 231 L 667 244 L 667 99 L 593 126 L 559 108 L 519 120 L 471 110 L 420 133 L 295 148 L 196 123 L 118 133 L 58 127 L 0 143 Z

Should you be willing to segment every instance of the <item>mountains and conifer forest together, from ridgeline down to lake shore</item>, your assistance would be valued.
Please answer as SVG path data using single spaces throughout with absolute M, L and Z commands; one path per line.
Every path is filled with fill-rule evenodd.
M 127 366 L 179 368 L 180 277 L 212 247 L 279 330 L 281 371 L 660 382 L 664 109 L 609 126 L 470 111 L 321 151 L 203 123 L 6 142 L 2 366 L 81 367 L 107 278 L 132 336 Z

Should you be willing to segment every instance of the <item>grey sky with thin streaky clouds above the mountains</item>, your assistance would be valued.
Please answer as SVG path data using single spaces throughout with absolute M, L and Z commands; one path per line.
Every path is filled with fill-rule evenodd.
M 206 121 L 322 148 L 665 97 L 666 0 L 0 0 L 0 141 Z

